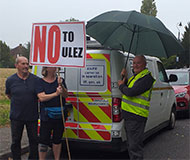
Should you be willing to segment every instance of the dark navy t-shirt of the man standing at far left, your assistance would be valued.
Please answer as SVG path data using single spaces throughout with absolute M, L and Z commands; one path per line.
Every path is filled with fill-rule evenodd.
M 5 94 L 11 97 L 11 120 L 35 121 L 38 119 L 36 92 L 38 79 L 31 73 L 26 80 L 19 78 L 17 74 L 7 78 Z

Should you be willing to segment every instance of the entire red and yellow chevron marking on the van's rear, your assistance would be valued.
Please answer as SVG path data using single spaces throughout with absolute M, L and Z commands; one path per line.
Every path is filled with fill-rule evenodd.
M 73 105 L 74 122 L 66 123 L 67 136 L 86 140 L 110 141 L 112 127 L 110 55 L 87 54 L 87 58 L 105 60 L 107 90 L 93 93 L 69 93 L 67 101 Z M 103 105 L 101 106 L 101 104 Z

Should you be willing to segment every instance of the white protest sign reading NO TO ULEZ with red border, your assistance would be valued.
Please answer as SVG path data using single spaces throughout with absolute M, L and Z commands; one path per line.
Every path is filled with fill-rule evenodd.
M 30 65 L 85 67 L 84 22 L 34 23 Z

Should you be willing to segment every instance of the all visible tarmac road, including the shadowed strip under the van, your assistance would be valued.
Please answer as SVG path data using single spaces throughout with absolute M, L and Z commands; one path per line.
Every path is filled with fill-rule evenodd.
M 25 156 L 25 157 L 24 157 Z M 26 154 L 23 155 L 26 159 Z M 52 152 L 47 159 L 53 159 Z M 64 153 L 62 159 L 68 159 Z M 128 159 L 127 153 L 71 151 L 71 159 Z M 162 130 L 145 142 L 145 160 L 190 160 L 190 119 L 178 119 L 173 130 Z

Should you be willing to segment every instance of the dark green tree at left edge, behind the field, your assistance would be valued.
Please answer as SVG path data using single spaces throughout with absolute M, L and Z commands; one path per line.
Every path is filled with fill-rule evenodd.
M 0 68 L 14 67 L 14 58 L 10 55 L 10 48 L 0 40 Z

